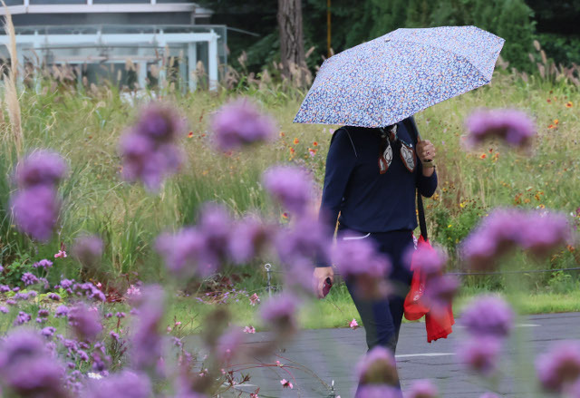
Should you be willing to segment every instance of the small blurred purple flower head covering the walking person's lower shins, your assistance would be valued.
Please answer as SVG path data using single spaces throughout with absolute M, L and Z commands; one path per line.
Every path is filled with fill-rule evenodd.
M 399 376 L 395 358 L 387 348 L 377 345 L 356 365 L 359 383 L 397 385 Z

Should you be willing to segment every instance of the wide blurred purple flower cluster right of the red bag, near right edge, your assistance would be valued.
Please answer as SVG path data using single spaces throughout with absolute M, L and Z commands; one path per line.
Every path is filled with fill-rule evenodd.
M 472 268 L 495 267 L 512 248 L 546 256 L 572 238 L 567 218 L 546 210 L 496 209 L 462 242 L 462 253 Z

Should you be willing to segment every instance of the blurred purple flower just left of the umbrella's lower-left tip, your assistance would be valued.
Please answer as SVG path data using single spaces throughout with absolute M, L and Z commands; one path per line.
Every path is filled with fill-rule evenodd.
M 275 121 L 258 111 L 247 99 L 238 99 L 222 106 L 211 120 L 214 144 L 219 150 L 235 150 L 275 137 Z

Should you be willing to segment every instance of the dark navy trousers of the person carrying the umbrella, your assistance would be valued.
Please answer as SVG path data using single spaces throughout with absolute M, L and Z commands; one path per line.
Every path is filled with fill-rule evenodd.
M 386 276 L 393 289 L 391 295 L 380 300 L 363 300 L 357 296 L 353 283 L 349 280 L 345 282 L 361 315 L 369 350 L 382 345 L 391 349 L 394 355 L 401 329 L 403 305 L 411 286 L 412 273 L 405 261 L 405 254 L 413 244 L 412 232 L 399 230 L 372 233 L 368 238 L 374 239 L 381 253 L 391 260 L 391 274 Z

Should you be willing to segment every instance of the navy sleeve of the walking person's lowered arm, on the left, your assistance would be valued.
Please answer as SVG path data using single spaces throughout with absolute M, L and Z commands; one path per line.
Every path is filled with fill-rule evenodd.
M 323 199 L 320 205 L 319 220 L 334 232 L 341 209 L 346 185 L 356 164 L 353 141 L 345 129 L 334 133 L 333 141 L 326 156 L 324 172 Z M 328 261 L 317 259 L 316 267 L 330 267 Z

